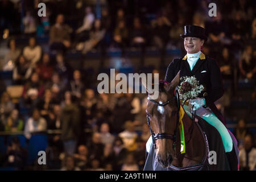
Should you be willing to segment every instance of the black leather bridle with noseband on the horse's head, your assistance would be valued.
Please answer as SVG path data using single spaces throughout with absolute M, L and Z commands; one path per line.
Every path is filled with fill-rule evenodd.
M 148 124 L 148 127 L 150 128 L 150 133 L 151 133 L 152 143 L 154 145 L 154 148 L 156 149 L 156 144 L 155 144 L 156 140 L 171 139 L 174 141 L 174 144 L 172 145 L 172 147 L 174 148 L 174 154 L 176 155 L 177 131 L 178 131 L 178 127 L 179 127 L 179 111 L 180 111 L 180 99 L 179 99 L 179 92 L 177 91 L 177 89 L 175 89 L 175 94 L 176 94 L 176 97 L 174 96 L 171 100 L 168 100 L 168 101 L 164 102 L 163 104 L 160 104 L 159 102 L 156 102 L 155 100 L 148 99 L 149 101 L 153 102 L 157 106 L 166 106 L 166 105 L 170 104 L 172 101 L 174 101 L 175 98 L 177 99 L 178 110 L 177 110 L 177 119 L 176 119 L 176 129 L 174 131 L 174 134 L 168 134 L 168 133 L 156 133 L 155 134 L 150 126 L 150 119 L 149 119 L 148 113 L 147 113 L 147 124 Z

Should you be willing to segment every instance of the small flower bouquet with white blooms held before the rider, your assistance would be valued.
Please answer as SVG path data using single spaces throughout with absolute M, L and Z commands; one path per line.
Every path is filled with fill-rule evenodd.
M 183 81 L 180 86 L 177 86 L 177 90 L 180 94 L 181 104 L 184 105 L 185 101 L 199 96 L 199 94 L 204 90 L 204 86 L 199 85 L 199 81 L 194 76 L 185 76 L 181 77 L 181 79 L 183 79 Z

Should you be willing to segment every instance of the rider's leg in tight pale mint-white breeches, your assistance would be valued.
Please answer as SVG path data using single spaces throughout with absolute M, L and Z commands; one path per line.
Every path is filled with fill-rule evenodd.
M 192 114 L 189 112 L 188 106 L 183 105 L 184 110 L 189 115 L 189 117 L 192 119 Z M 216 115 L 210 110 L 209 107 L 204 108 L 200 107 L 196 110 L 196 115 L 203 118 L 205 121 L 207 121 L 210 125 L 215 127 L 218 132 L 221 135 L 222 142 L 224 144 L 225 152 L 232 151 L 233 148 L 233 140 L 230 137 L 229 131 L 226 129 L 226 127 L 223 125 L 223 123 L 216 117 Z

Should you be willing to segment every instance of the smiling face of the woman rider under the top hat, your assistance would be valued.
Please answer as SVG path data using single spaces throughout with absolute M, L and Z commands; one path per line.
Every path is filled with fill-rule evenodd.
M 199 52 L 203 44 L 204 40 L 200 38 L 195 38 L 191 36 L 187 36 L 184 38 L 184 48 L 187 51 L 187 53 Z

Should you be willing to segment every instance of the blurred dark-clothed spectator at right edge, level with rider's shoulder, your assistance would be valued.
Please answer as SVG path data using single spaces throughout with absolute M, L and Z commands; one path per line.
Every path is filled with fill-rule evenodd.
M 251 46 L 246 46 L 239 62 L 242 78 L 253 79 L 256 72 L 256 56 L 253 55 Z

